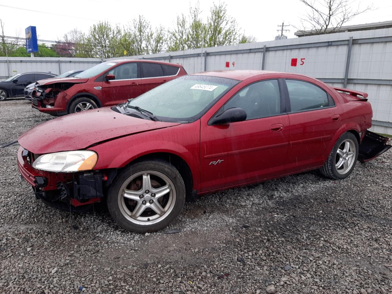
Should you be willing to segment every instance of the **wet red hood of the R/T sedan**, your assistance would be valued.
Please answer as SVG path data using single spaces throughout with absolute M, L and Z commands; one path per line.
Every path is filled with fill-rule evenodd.
M 110 107 L 54 118 L 25 132 L 19 144 L 34 154 L 85 149 L 94 143 L 179 125 L 135 118 Z

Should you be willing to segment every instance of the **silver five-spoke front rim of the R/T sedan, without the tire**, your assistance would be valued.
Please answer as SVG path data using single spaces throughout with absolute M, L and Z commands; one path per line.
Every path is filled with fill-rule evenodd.
M 129 177 L 118 192 L 118 207 L 127 220 L 152 225 L 166 218 L 176 203 L 173 182 L 158 171 L 141 171 Z

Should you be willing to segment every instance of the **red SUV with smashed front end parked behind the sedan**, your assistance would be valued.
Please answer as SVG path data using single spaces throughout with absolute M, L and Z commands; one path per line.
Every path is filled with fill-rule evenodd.
M 187 74 L 181 65 L 151 60 L 111 60 L 74 78 L 40 80 L 33 108 L 54 116 L 112 106 Z

